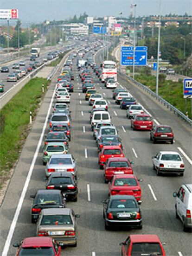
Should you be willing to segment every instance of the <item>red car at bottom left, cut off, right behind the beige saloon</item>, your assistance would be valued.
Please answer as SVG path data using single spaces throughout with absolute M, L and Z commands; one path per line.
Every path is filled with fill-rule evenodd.
M 45 255 L 60 256 L 61 246 L 51 237 L 27 237 L 21 243 L 13 244 L 18 247 L 16 256 Z

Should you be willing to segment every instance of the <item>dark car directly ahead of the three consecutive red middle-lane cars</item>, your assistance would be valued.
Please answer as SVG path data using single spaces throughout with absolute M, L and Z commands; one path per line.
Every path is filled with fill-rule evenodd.
M 101 151 L 104 146 L 120 146 L 123 149 L 119 135 L 102 135 L 97 141 L 98 151 Z

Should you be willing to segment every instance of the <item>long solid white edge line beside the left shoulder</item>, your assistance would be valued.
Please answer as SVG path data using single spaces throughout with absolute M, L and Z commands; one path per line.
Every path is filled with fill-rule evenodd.
M 32 171 L 33 171 L 33 168 L 35 166 L 35 162 L 36 162 L 37 157 L 38 157 L 38 152 L 39 152 L 39 149 L 41 147 L 41 143 L 42 143 L 43 138 L 44 138 L 44 133 L 45 133 L 45 129 L 46 129 L 46 126 L 47 126 L 48 118 L 49 118 L 49 115 L 50 115 L 50 111 L 51 111 L 51 107 L 52 107 L 52 103 L 53 103 L 55 92 L 56 92 L 56 88 L 55 88 L 55 90 L 53 92 L 53 95 L 52 95 L 52 98 L 51 98 L 49 109 L 47 111 L 47 115 L 46 115 L 46 118 L 45 118 L 45 123 L 44 123 L 43 129 L 42 129 L 39 141 L 38 141 L 37 148 L 35 150 L 35 154 L 34 154 L 33 159 L 32 159 L 31 166 L 29 168 L 29 172 L 28 172 L 27 177 L 26 177 L 26 181 L 25 181 L 25 184 L 24 184 L 21 196 L 19 198 L 19 203 L 17 205 L 17 209 L 15 211 L 15 215 L 13 217 L 13 221 L 11 223 L 11 226 L 10 226 L 10 229 L 9 229 L 9 233 L 8 233 L 8 235 L 6 237 L 6 243 L 5 243 L 4 248 L 3 248 L 2 256 L 7 256 L 7 253 L 8 253 L 9 247 L 10 247 L 10 243 L 11 243 L 11 240 L 12 240 L 12 237 L 13 237 L 15 226 L 17 224 L 17 221 L 18 221 L 18 218 L 19 218 L 19 214 L 20 214 L 20 211 L 21 211 L 21 208 L 22 208 L 22 205 L 23 205 L 23 201 L 24 201 L 24 198 L 26 196 L 27 188 L 29 186 L 29 182 L 30 182 L 30 179 L 31 179 L 31 176 L 32 176 Z

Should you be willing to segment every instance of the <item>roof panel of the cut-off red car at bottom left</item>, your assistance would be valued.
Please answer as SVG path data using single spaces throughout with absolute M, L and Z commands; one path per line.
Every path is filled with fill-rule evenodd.
M 52 247 L 51 237 L 26 237 L 23 239 L 22 248 L 45 246 Z

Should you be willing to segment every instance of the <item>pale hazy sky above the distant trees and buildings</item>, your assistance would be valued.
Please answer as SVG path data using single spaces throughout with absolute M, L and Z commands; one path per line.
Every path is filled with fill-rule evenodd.
M 158 14 L 159 0 L 134 0 L 137 3 L 136 16 Z M 0 0 L 0 9 L 19 9 L 22 23 L 62 20 L 79 16 L 84 11 L 90 16 L 123 17 L 130 13 L 131 0 Z M 175 13 L 192 15 L 192 0 L 161 0 L 162 14 Z M 0 22 L 2 24 L 2 21 Z

